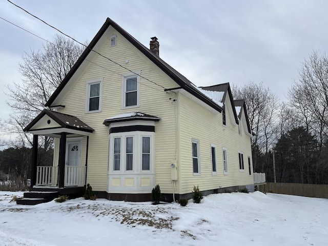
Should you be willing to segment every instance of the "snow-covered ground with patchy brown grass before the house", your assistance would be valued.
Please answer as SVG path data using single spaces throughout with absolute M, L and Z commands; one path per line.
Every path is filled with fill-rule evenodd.
M 328 245 L 328 199 L 213 194 L 187 207 L 77 198 L 16 205 L 0 192 L 0 245 Z

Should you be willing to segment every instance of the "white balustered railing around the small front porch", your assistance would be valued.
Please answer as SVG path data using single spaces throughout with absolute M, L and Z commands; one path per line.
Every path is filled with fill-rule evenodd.
M 84 186 L 86 167 L 65 166 L 65 186 Z M 58 186 L 58 167 L 37 166 L 35 186 Z

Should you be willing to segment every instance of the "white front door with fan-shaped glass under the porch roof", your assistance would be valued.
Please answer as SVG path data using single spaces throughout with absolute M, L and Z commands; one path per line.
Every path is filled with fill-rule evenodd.
M 68 141 L 66 144 L 65 186 L 79 184 L 80 141 Z

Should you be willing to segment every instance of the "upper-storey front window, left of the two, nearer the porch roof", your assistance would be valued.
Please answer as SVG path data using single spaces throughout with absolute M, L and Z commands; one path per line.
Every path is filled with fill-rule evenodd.
M 94 79 L 87 81 L 87 103 L 86 112 L 101 111 L 101 90 L 103 79 Z

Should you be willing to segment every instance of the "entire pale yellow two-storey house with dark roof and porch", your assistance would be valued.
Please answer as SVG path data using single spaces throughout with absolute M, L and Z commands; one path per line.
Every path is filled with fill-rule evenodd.
M 197 88 L 107 18 L 85 52 L 26 128 L 55 137 L 52 167 L 37 166 L 30 191 L 162 200 L 247 187 L 254 191 L 251 129 L 229 84 Z

